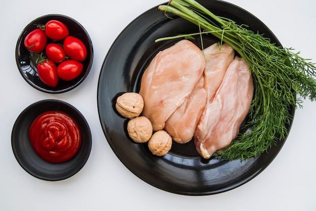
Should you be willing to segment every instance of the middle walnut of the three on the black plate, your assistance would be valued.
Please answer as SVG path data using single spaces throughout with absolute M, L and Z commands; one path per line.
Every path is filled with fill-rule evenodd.
M 137 143 L 145 143 L 152 134 L 151 122 L 146 117 L 135 117 L 127 123 L 128 135 Z

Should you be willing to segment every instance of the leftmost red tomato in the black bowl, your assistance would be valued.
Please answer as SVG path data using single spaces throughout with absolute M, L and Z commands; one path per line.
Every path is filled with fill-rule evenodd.
M 41 29 L 35 29 L 28 33 L 24 39 L 24 46 L 33 52 L 40 52 L 45 49 L 47 36 Z

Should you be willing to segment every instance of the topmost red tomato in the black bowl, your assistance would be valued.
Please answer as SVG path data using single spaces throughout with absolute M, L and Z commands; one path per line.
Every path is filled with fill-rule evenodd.
M 69 31 L 64 23 L 56 20 L 51 20 L 48 21 L 45 25 L 45 33 L 50 39 L 62 40 L 68 36 Z

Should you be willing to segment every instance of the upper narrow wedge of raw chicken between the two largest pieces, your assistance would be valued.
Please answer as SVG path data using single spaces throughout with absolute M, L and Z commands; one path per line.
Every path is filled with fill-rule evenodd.
M 221 49 L 218 43 L 208 46 L 204 49 L 205 69 L 204 69 L 204 89 L 207 93 L 207 101 L 214 97 L 220 87 L 226 70 L 233 61 L 235 55 L 234 49 L 224 43 Z

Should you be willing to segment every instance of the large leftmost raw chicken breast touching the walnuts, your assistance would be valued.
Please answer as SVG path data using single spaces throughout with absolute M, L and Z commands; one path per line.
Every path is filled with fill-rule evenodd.
M 201 50 L 188 40 L 177 42 L 153 58 L 139 91 L 144 99 L 142 116 L 150 120 L 153 131 L 164 129 L 167 119 L 201 78 L 204 66 Z

